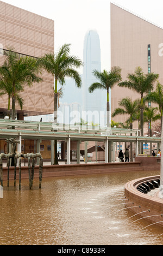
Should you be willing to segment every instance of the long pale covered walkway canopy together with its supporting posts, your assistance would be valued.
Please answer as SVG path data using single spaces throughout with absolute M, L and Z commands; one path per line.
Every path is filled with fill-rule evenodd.
M 13 127 L 15 129 L 13 129 Z M 71 141 L 77 141 L 77 163 L 80 161 L 80 143 L 85 142 L 85 163 L 87 162 L 87 142 L 102 141 L 105 146 L 105 163 L 111 162 L 111 152 L 115 152 L 115 142 L 135 142 L 136 156 L 138 145 L 155 143 L 160 145 L 161 138 L 138 136 L 139 130 L 110 127 L 72 126 L 70 124 L 54 124 L 17 120 L 0 120 L 0 139 L 16 138 L 20 140 L 17 151 L 21 152 L 22 139 L 37 141 L 40 151 L 42 140 L 51 141 L 51 161 L 54 162 L 54 140 L 65 140 L 67 144 L 67 164 L 71 163 Z M 114 158 L 115 156 L 113 156 Z

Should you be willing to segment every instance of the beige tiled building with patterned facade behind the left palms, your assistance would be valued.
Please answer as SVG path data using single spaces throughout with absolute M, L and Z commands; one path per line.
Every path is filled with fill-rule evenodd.
M 30 13 L 0 1 L 0 65 L 7 55 L 7 46 L 14 47 L 20 56 L 40 57 L 44 53 L 54 52 L 54 21 Z M 23 110 L 16 106 L 18 119 L 23 116 L 46 115 L 54 111 L 54 99 L 51 96 L 54 79 L 46 72 L 42 73 L 40 84 L 25 88 Z M 0 117 L 8 108 L 8 96 L 0 97 Z

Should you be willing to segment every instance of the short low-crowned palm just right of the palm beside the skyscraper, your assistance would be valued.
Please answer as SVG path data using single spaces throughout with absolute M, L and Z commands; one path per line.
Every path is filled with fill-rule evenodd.
M 114 112 L 112 113 L 112 117 L 115 117 L 117 115 L 129 115 L 130 117 L 130 129 L 133 129 L 133 117 L 135 115 L 135 112 L 139 109 L 139 102 L 140 100 L 134 100 L 134 102 L 132 102 L 132 100 L 127 97 L 121 100 L 121 102 L 119 103 L 119 105 L 122 108 L 117 108 L 114 110 Z M 132 136 L 132 134 L 131 134 Z M 133 162 L 133 143 L 130 143 L 130 158 L 131 158 L 131 162 Z

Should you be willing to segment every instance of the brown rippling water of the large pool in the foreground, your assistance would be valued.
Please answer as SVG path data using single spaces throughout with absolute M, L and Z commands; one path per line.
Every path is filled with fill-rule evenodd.
M 162 245 L 163 229 L 134 222 L 124 205 L 124 184 L 152 175 L 159 172 L 43 178 L 41 189 L 27 180 L 21 191 L 4 182 L 0 245 Z

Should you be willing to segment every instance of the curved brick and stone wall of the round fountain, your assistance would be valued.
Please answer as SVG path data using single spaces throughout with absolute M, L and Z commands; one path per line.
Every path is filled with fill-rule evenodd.
M 158 180 L 159 178 L 160 176 L 139 178 L 128 182 L 124 189 L 126 199 L 133 204 L 130 211 L 139 217 L 145 217 L 153 225 L 163 227 L 163 199 L 159 198 L 160 189 L 157 188 L 148 194 L 143 194 L 137 190 L 140 184 Z

